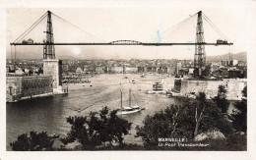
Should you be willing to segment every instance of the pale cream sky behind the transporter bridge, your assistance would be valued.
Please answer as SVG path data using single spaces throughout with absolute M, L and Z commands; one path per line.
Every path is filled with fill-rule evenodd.
M 173 3 L 172 3 L 173 2 Z M 206 46 L 206 55 L 215 56 L 228 52 L 238 53 L 248 49 L 248 35 L 256 26 L 249 3 L 242 1 L 177 1 L 165 5 L 82 7 L 82 8 L 10 8 L 7 9 L 7 44 L 15 41 L 47 10 L 75 25 L 69 25 L 53 16 L 55 42 L 110 42 L 114 40 L 138 40 L 142 42 L 194 42 L 197 16 L 184 26 L 179 24 L 199 11 L 217 26 L 233 46 Z M 175 3 L 174 3 L 175 2 Z M 193 3 L 192 3 L 193 2 Z M 81 29 L 77 29 L 77 27 Z M 175 27 L 174 27 L 175 28 Z M 40 42 L 45 38 L 46 19 L 28 34 Z M 204 21 L 205 41 L 216 42 L 221 36 Z M 7 45 L 7 57 L 10 56 Z M 17 46 L 18 58 L 42 57 L 42 46 Z M 193 59 L 194 46 L 55 46 L 58 58 L 81 59 Z M 27 53 L 27 54 L 26 54 Z M 12 55 L 14 56 L 14 55 Z

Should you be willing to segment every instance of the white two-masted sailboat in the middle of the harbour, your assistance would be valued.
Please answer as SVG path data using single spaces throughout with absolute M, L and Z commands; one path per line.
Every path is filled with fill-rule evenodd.
M 123 106 L 123 99 L 122 99 L 122 89 L 121 89 L 121 83 L 120 83 L 120 93 L 121 93 L 121 108 L 118 110 L 117 114 L 119 115 L 127 115 L 132 114 L 136 112 L 140 112 L 141 110 L 144 110 L 145 108 L 140 107 L 138 105 L 132 106 L 131 105 L 131 83 L 129 80 L 129 106 Z

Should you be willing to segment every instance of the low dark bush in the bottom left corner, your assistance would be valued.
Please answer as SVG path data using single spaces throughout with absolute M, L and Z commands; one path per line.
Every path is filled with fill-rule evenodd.
M 51 150 L 54 139 L 47 135 L 46 132 L 31 132 L 20 134 L 16 141 L 10 143 L 15 151 L 40 151 L 43 149 Z

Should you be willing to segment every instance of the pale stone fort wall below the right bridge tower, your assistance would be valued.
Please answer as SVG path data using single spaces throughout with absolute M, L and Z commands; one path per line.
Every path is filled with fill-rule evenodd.
M 227 99 L 241 100 L 241 91 L 246 83 L 246 79 L 180 80 L 180 82 L 174 83 L 174 91 L 179 92 L 182 96 L 187 96 L 193 92 L 205 92 L 207 98 L 213 98 L 218 94 L 219 85 L 224 85 Z

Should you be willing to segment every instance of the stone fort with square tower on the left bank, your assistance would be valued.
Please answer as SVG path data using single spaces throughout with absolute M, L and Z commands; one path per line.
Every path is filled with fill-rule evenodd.
M 37 75 L 31 76 L 31 70 Z M 41 68 L 36 66 L 29 70 L 29 74 L 28 69 L 19 68 L 15 73 L 8 74 L 6 77 L 7 102 L 67 92 L 66 83 L 62 84 L 61 60 L 44 59 L 43 73 Z

